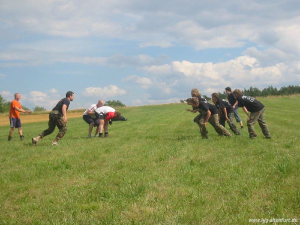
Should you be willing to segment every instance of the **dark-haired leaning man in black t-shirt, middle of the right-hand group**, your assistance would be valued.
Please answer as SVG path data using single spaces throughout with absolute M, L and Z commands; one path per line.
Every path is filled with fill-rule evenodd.
M 218 109 L 219 122 L 225 127 L 225 121 L 227 121 L 230 129 L 234 134 L 240 135 L 239 129 L 233 122 L 233 108 L 229 102 L 225 99 L 219 98 L 217 93 L 211 94 L 211 100 Z

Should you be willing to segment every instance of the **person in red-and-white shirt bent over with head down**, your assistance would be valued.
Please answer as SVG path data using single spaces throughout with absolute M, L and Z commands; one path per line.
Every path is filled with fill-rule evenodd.
M 103 127 L 104 127 L 104 137 L 108 137 L 108 123 L 109 119 L 115 118 L 119 119 L 120 113 L 110 106 L 101 106 L 96 108 L 95 116 L 100 120 L 99 125 L 99 137 L 103 137 Z

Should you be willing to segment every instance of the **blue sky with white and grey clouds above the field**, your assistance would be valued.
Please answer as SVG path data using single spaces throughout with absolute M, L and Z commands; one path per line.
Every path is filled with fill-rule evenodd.
M 0 95 L 51 109 L 300 84 L 298 0 L 0 0 Z

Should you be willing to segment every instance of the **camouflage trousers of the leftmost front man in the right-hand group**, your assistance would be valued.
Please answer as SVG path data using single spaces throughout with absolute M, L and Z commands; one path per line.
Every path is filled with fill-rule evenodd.
M 203 113 L 202 116 L 201 116 L 201 118 L 198 120 L 198 125 L 199 125 L 199 128 L 200 128 L 200 133 L 201 133 L 201 136 L 203 138 L 207 138 L 206 127 L 202 125 L 202 123 L 204 122 L 205 118 L 206 118 L 206 113 Z M 214 130 L 220 136 L 222 136 L 222 135 L 224 135 L 224 136 L 231 136 L 231 133 L 224 126 L 222 126 L 219 123 L 218 115 L 217 114 L 210 115 L 210 117 L 208 119 L 208 122 L 213 126 Z

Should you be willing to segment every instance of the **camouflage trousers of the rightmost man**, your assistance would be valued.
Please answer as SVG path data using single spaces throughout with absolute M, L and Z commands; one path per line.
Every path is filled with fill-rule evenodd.
M 271 137 L 271 134 L 268 130 L 265 118 L 264 118 L 264 108 L 257 112 L 251 112 L 249 116 L 249 120 L 247 120 L 248 132 L 249 137 L 254 138 L 256 137 L 256 132 L 254 130 L 254 124 L 258 121 L 258 124 L 261 128 L 263 135 L 267 138 Z

